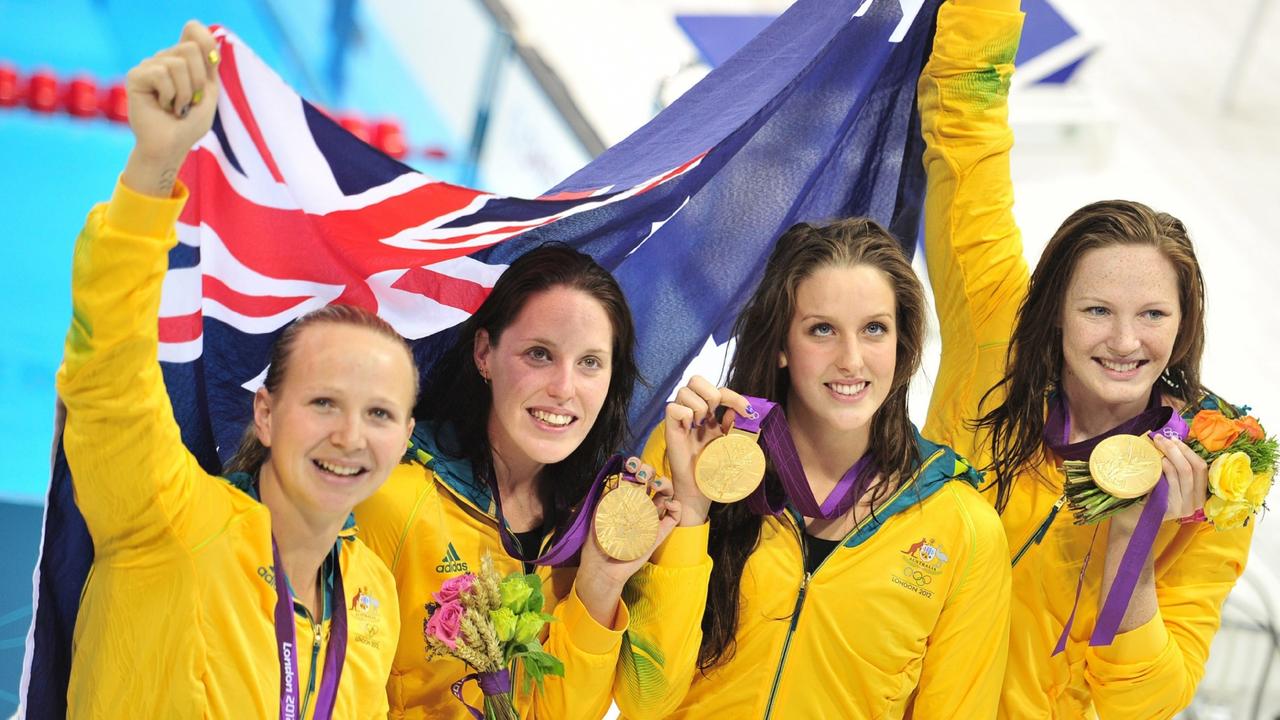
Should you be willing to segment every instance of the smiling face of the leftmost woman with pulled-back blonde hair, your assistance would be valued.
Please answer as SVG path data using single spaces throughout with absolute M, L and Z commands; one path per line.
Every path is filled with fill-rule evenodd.
M 306 518 L 346 519 L 404 454 L 413 382 L 404 347 L 378 332 L 305 328 L 276 392 L 253 397 L 255 430 L 270 448 L 261 482 Z

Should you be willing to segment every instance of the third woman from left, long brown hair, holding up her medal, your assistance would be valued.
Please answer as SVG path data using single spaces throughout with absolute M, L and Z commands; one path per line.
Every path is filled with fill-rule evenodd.
M 989 717 L 1007 546 L 979 475 L 908 419 L 924 296 L 897 240 L 868 219 L 792 227 L 733 337 L 727 387 L 694 378 L 644 452 L 681 524 L 709 520 L 714 565 L 705 610 L 701 588 L 628 584 L 652 612 L 623 650 L 623 715 Z M 764 482 L 713 503 L 698 459 L 742 427 Z

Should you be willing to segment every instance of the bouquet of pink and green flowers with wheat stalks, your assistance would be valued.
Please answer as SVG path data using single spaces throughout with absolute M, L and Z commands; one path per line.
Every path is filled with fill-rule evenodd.
M 554 616 L 543 612 L 543 584 L 538 575 L 512 573 L 506 578 L 493 568 L 485 552 L 480 573 L 449 578 L 435 602 L 426 606 L 422 635 L 428 660 L 456 657 L 475 670 L 453 683 L 453 696 L 462 700 L 462 685 L 476 680 L 484 693 L 484 710 L 467 705 L 477 720 L 518 720 L 512 693 L 512 665 L 518 659 L 524 689 L 543 684 L 547 675 L 564 675 L 564 665 L 545 652 L 538 641 L 543 625 Z

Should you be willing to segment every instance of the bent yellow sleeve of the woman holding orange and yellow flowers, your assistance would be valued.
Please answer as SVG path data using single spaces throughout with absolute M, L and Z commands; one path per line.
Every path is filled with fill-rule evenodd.
M 1253 537 L 1253 523 L 1236 530 L 1203 524 L 1167 568 L 1156 561 L 1156 616 L 1116 635 L 1107 647 L 1085 650 L 1085 680 L 1100 717 L 1172 717 L 1185 708 L 1204 675 L 1222 602 Z

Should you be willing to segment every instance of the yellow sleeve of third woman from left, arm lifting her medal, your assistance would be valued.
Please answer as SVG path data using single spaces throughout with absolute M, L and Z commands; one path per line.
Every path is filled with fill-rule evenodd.
M 649 436 L 641 457 L 669 475 L 663 424 Z M 618 656 L 613 698 L 628 720 L 666 717 L 689 692 L 712 575 L 709 534 L 709 523 L 676 528 L 622 592 L 631 626 Z

